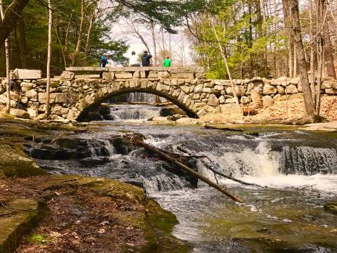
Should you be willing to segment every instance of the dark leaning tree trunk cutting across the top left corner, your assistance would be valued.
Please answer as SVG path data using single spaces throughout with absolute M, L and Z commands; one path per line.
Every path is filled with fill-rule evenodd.
M 15 27 L 16 21 L 20 17 L 22 10 L 29 0 L 14 0 L 4 13 L 4 19 L 0 22 L 0 46 L 4 44 L 9 34 Z

